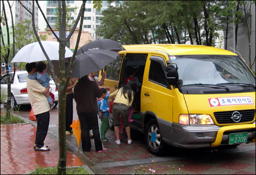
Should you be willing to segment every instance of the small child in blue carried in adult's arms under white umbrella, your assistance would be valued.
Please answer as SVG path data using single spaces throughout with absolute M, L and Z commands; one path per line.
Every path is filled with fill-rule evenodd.
M 40 61 L 37 63 L 36 68 L 38 72 L 35 72 L 33 75 L 28 75 L 28 78 L 30 80 L 38 80 L 38 82 L 44 87 L 50 86 L 49 82 L 51 79 L 46 73 L 46 68 L 47 68 L 46 63 L 44 61 Z M 55 106 L 51 95 L 47 97 L 47 100 L 48 100 L 48 103 L 50 104 L 50 110 L 51 110 Z

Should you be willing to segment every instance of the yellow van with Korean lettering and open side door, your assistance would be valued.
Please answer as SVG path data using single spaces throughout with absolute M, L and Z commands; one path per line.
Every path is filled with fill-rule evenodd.
M 149 151 L 255 142 L 255 76 L 238 55 L 182 44 L 123 45 L 107 65 L 111 92 L 135 77 L 134 128 Z

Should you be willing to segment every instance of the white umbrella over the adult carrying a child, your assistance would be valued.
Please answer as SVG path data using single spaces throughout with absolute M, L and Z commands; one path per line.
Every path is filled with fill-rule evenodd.
M 41 41 L 42 46 L 44 46 L 45 51 L 50 58 L 50 60 L 59 60 L 59 42 L 57 41 Z M 65 58 L 72 57 L 73 52 L 66 46 L 65 47 Z M 15 57 L 12 59 L 11 63 L 14 62 L 37 62 L 46 61 L 46 56 L 42 52 L 42 49 L 38 42 L 33 42 L 31 44 L 22 47 Z

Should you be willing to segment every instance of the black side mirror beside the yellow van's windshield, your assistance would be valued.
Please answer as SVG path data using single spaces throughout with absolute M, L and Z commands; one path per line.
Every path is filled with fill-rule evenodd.
M 181 88 L 183 81 L 179 80 L 179 73 L 177 64 L 171 63 L 165 67 L 167 71 L 167 83 L 174 86 L 174 88 Z

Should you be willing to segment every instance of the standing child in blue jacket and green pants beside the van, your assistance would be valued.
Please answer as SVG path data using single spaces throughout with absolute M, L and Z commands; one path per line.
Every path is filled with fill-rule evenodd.
M 101 126 L 100 126 L 100 135 L 101 135 L 101 141 L 102 142 L 108 142 L 109 140 L 106 139 L 105 135 L 106 132 L 109 130 L 110 124 L 109 124 L 109 107 L 106 102 L 109 99 L 110 91 L 106 91 L 105 88 L 100 89 L 103 93 L 101 97 L 98 99 L 98 106 L 99 111 L 101 112 Z

